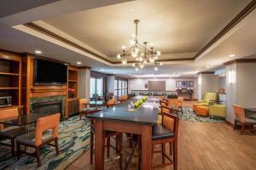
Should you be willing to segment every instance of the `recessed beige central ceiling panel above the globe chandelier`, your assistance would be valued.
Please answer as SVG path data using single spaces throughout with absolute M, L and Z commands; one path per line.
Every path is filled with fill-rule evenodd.
M 43 20 L 102 54 L 116 59 L 129 47 L 139 19 L 140 42 L 154 42 L 164 58 L 192 58 L 244 8 L 249 0 L 138 0 Z M 75 20 L 74 20 L 75 19 Z M 187 55 L 186 53 L 190 53 Z

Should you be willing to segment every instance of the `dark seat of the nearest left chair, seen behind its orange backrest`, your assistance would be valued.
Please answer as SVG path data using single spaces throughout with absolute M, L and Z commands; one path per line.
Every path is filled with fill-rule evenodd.
M 49 139 L 54 139 L 54 136 L 52 135 L 52 130 L 47 130 L 42 135 L 42 143 L 49 141 Z M 29 144 L 29 145 L 35 145 L 35 132 L 32 131 L 30 133 L 25 133 L 16 138 L 16 142 L 19 142 L 20 144 Z

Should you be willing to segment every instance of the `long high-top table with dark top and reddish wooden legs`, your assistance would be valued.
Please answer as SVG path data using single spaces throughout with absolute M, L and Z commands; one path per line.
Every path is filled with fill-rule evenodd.
M 141 96 L 126 100 L 87 117 L 96 120 L 95 169 L 104 169 L 106 130 L 142 135 L 142 169 L 151 169 L 152 126 L 157 124 L 159 99 L 148 98 L 136 111 L 128 111 Z

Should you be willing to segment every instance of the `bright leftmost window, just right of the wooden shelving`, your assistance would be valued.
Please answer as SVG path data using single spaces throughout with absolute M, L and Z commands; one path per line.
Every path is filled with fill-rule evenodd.
M 102 78 L 90 77 L 90 98 L 103 95 L 103 80 Z

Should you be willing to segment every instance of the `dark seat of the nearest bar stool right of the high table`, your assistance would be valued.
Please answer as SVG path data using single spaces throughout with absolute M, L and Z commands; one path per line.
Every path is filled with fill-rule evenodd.
M 167 138 L 173 138 L 174 133 L 172 131 L 166 129 L 165 127 L 161 125 L 155 125 L 152 127 L 152 139 L 167 139 Z

